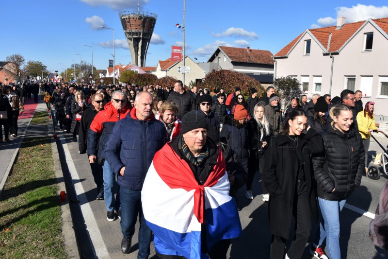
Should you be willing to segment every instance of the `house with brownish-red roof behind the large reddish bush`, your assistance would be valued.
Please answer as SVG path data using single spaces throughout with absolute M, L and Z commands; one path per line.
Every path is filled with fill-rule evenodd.
M 274 59 L 270 51 L 255 50 L 250 47 L 234 48 L 218 46 L 210 56 L 208 63 L 201 66 L 209 67 L 207 72 L 215 69 L 232 69 L 249 75 L 260 83 L 272 84 L 274 81 Z

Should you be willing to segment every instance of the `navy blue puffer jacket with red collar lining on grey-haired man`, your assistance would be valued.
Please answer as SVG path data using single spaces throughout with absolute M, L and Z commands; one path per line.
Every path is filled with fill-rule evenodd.
M 149 120 L 141 121 L 136 118 L 136 109 L 133 108 L 124 120 L 116 122 L 106 142 L 105 154 L 113 172 L 118 175 L 118 185 L 129 190 L 142 190 L 155 153 L 167 141 L 166 128 L 153 114 Z M 124 166 L 124 176 L 121 176 L 120 170 Z

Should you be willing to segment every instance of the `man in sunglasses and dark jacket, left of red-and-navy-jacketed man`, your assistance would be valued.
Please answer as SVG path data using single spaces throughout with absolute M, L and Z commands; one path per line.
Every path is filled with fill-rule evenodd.
M 97 113 L 104 108 L 102 94 L 94 94 L 92 96 L 92 105 L 82 113 L 80 131 L 78 138 L 78 147 L 80 154 L 86 153 L 87 148 L 87 136 L 90 128 L 90 124 L 96 117 Z M 102 166 L 97 163 L 90 163 L 90 169 L 92 170 L 94 182 L 97 186 L 97 198 L 96 200 L 104 199 L 104 180 L 102 175 Z

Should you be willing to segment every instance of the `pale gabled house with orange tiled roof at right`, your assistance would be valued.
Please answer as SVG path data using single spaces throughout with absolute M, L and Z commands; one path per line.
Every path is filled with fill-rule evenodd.
M 388 105 L 388 17 L 307 29 L 274 55 L 275 77 L 291 76 L 307 94 L 361 90 L 363 104 Z

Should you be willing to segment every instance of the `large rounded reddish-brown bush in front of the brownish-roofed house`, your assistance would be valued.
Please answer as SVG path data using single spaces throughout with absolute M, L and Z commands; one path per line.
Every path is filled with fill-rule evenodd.
M 248 75 L 226 69 L 211 71 L 205 76 L 203 82 L 197 86 L 208 88 L 212 92 L 215 92 L 217 88 L 223 88 L 226 93 L 233 93 L 234 89 L 239 86 L 242 94 L 245 96 L 251 95 L 251 87 L 256 88 L 258 96 L 262 96 L 264 93 L 264 88 L 258 80 Z

